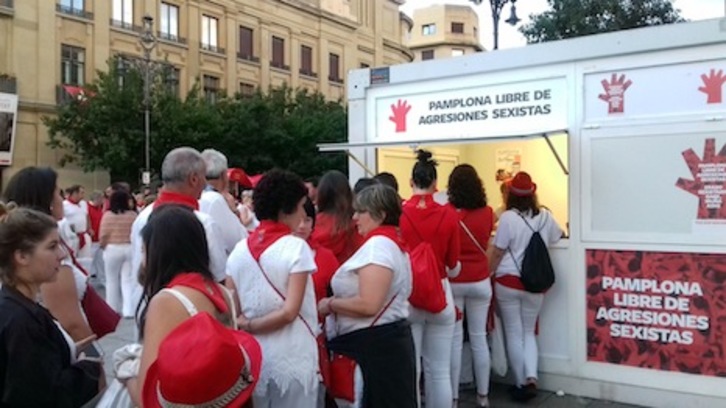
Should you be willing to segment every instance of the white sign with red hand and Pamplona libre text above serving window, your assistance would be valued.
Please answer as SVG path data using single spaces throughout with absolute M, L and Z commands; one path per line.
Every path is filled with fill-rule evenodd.
M 459 89 L 461 81 L 444 85 L 433 92 L 386 88 L 388 95 L 375 98 L 374 141 L 518 136 L 567 128 L 564 79 Z

